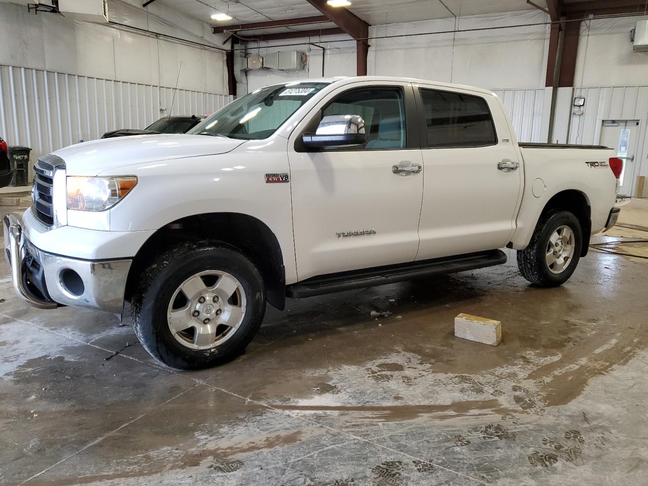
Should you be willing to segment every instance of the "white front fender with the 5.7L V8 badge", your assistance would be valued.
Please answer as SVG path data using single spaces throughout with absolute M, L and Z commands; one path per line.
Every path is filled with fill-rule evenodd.
M 196 214 L 246 214 L 274 233 L 284 255 L 286 283 L 297 280 L 290 182 L 266 183 L 266 173 L 289 174 L 285 146 L 262 154 L 235 150 L 172 162 L 128 167 L 137 186 L 110 210 L 110 231 L 155 231 Z

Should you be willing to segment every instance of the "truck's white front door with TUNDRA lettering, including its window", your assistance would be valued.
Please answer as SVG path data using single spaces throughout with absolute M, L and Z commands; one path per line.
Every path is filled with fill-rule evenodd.
M 335 272 L 411 262 L 419 246 L 422 166 L 410 84 L 364 82 L 332 92 L 295 128 L 288 143 L 295 258 L 300 281 Z M 360 115 L 362 146 L 299 148 L 321 117 Z M 295 142 L 297 142 L 295 144 Z M 422 168 L 421 168 L 422 170 Z

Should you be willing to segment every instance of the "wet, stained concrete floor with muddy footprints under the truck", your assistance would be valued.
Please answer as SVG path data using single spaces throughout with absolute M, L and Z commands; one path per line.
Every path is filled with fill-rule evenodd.
M 624 209 L 648 226 L 648 201 Z M 113 316 L 27 307 L 3 262 L 0 484 L 645 485 L 648 260 L 592 251 L 546 290 L 508 253 L 269 308 L 246 354 L 195 373 Z M 503 342 L 454 338 L 459 312 Z

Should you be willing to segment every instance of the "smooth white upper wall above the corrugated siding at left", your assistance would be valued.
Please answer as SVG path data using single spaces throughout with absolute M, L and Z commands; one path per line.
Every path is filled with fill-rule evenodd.
M 153 4 L 150 6 L 152 7 Z M 192 42 L 225 49 L 197 19 L 168 6 L 148 8 L 111 1 L 111 19 L 141 29 L 163 32 Z M 165 14 L 175 27 L 157 14 Z M 157 30 L 156 30 L 157 29 Z M 0 64 L 41 69 L 100 79 L 176 86 L 192 91 L 227 93 L 225 52 L 148 34 L 118 29 L 109 24 L 75 21 L 51 14 L 28 14 L 27 8 L 0 3 Z

